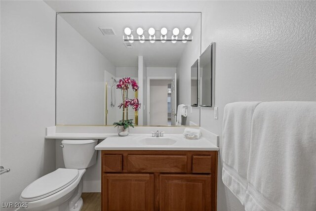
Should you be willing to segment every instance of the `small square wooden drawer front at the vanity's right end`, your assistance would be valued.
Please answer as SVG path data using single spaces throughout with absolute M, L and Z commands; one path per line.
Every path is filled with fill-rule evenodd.
M 213 173 L 212 156 L 193 155 L 192 156 L 192 172 L 193 173 Z

